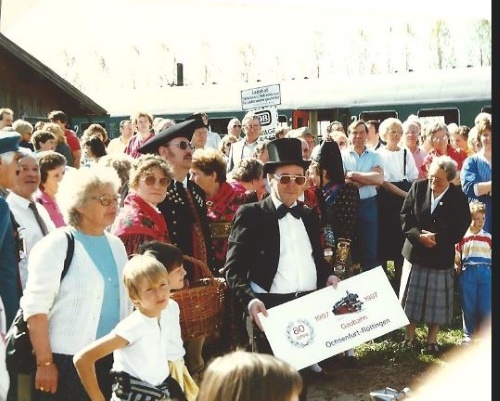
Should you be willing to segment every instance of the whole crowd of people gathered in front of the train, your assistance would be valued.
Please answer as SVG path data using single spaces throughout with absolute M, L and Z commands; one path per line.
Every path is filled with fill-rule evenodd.
M 247 382 L 263 372 L 287 384 L 263 384 L 262 397 L 305 400 L 321 366 L 296 372 L 261 355 L 273 351 L 259 313 L 378 266 L 410 321 L 404 347 L 440 353 L 455 285 L 462 344 L 489 321 L 490 114 L 471 128 L 333 121 L 321 141 L 309 127 L 263 140 L 253 112 L 225 135 L 206 113 L 140 111 L 111 140 L 99 124 L 79 138 L 67 122 L 55 110 L 33 126 L 0 108 L 0 330 L 22 307 L 33 400 L 250 401 L 264 399 Z M 215 336 L 181 332 L 184 306 L 170 295 L 206 278 L 184 255 L 227 282 Z M 0 400 L 17 400 L 18 380 L 0 374 Z

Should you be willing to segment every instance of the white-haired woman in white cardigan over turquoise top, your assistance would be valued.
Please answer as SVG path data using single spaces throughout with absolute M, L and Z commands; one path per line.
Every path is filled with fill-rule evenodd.
M 88 400 L 73 355 L 132 310 L 121 285 L 127 253 L 120 239 L 106 231 L 116 216 L 119 187 L 112 168 L 70 170 L 56 195 L 68 227 L 51 231 L 31 251 L 20 304 L 33 344 L 34 387 L 40 399 Z M 67 236 L 74 239 L 73 250 Z M 69 268 L 61 277 L 66 260 Z M 96 365 L 106 399 L 111 397 L 112 363 L 110 355 Z

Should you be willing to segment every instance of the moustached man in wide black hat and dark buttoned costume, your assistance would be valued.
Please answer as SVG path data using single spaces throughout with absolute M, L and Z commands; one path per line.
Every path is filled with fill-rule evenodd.
M 214 268 L 212 241 L 207 219 L 205 192 L 189 180 L 193 146 L 191 139 L 203 122 L 190 119 L 172 125 L 147 141 L 140 149 L 142 154 L 156 153 L 169 162 L 174 180 L 167 188 L 165 200 L 158 204 L 167 223 L 172 244 L 178 246 L 185 255 L 194 257 Z M 201 278 L 201 272 L 194 266 L 184 264 L 187 279 L 194 282 Z M 215 272 L 214 272 L 215 273 Z M 186 366 L 196 379 L 204 369 L 202 348 L 204 337 L 185 342 Z

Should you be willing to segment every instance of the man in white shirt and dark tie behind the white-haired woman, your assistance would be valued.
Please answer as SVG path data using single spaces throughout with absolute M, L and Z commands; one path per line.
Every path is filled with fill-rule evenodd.
M 40 166 L 33 153 L 25 153 L 19 161 L 14 185 L 9 188 L 7 203 L 18 225 L 19 273 L 24 290 L 28 278 L 28 257 L 33 246 L 46 234 L 55 229 L 47 210 L 34 201 L 34 194 L 40 185 Z M 22 246 L 21 246 L 22 244 Z

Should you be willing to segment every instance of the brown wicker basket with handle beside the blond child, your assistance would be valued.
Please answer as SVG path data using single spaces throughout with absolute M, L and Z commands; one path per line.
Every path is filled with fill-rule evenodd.
M 204 278 L 171 294 L 180 308 L 182 339 L 213 336 L 222 324 L 226 281 L 214 278 L 201 260 L 187 255 L 184 255 L 184 260 L 199 266 Z

